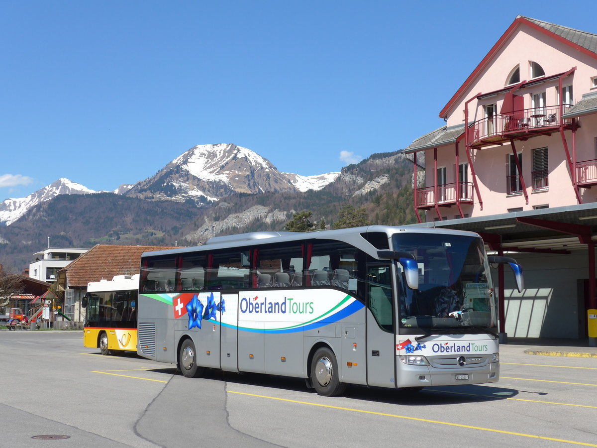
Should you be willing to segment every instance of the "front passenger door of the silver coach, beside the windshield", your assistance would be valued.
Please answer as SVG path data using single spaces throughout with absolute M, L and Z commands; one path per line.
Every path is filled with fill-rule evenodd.
M 395 387 L 392 265 L 367 264 L 367 383 Z

